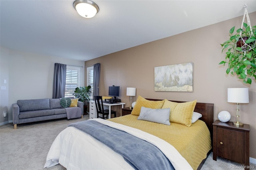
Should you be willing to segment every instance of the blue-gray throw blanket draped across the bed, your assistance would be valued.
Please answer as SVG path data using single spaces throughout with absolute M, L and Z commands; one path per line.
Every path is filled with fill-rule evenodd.
M 69 126 L 76 127 L 106 144 L 121 154 L 134 169 L 174 170 L 171 162 L 156 146 L 127 132 L 96 121 L 82 121 Z

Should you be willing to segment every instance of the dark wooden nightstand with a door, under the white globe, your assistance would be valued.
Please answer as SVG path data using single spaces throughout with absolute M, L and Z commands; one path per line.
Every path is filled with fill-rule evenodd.
M 249 166 L 250 125 L 233 125 L 233 122 L 214 121 L 213 160 L 217 156 Z

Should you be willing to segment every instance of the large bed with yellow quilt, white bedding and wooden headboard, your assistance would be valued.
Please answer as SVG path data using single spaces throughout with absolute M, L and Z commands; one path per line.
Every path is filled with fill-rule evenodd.
M 192 103 L 192 112 L 200 113 L 202 117 L 191 123 L 191 114 L 189 125 L 177 123 L 171 115 L 175 115 L 178 107 L 191 106 L 191 102 L 140 96 L 130 115 L 108 120 L 90 119 L 70 125 L 52 143 L 44 167 L 61 164 L 67 169 L 200 169 L 212 148 L 214 104 Z M 156 111 L 159 112 L 156 114 Z M 159 115 L 160 119 L 166 117 L 166 111 L 170 115 L 168 121 L 172 120 L 170 125 L 157 123 Z M 183 112 L 191 112 L 191 108 L 190 111 L 182 109 Z M 153 121 L 141 119 L 142 115 L 151 113 L 156 121 L 152 117 Z M 123 134 L 130 136 L 123 137 Z

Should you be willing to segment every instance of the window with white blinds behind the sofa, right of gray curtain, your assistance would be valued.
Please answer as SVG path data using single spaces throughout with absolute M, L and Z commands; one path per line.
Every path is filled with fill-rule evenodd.
M 80 86 L 80 68 L 67 66 L 65 97 L 74 97 L 76 87 Z

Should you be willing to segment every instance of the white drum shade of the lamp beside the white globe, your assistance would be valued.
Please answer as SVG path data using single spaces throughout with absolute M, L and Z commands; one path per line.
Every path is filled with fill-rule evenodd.
M 249 103 L 248 88 L 228 88 L 228 102 Z

